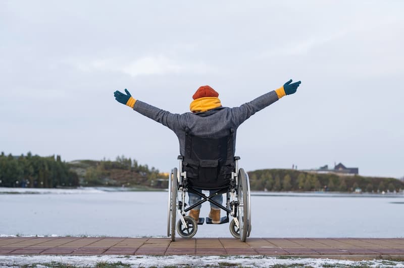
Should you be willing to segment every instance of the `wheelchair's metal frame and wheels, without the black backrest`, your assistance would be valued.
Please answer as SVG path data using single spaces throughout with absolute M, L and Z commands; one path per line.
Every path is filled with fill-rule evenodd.
M 167 216 L 167 236 L 171 237 L 171 241 L 175 241 L 175 230 L 183 238 L 191 238 L 196 234 L 197 225 L 203 224 L 204 219 L 199 218 L 197 223 L 192 217 L 185 216 L 191 209 L 210 202 L 218 206 L 221 210 L 226 212 L 226 217 L 221 218 L 222 223 L 229 222 L 229 215 L 233 217 L 230 222 L 230 233 L 236 239 L 245 242 L 251 232 L 251 202 L 250 202 L 250 187 L 248 174 L 242 168 L 238 168 L 238 160 L 240 157 L 234 157 L 235 170 L 231 173 L 230 184 L 221 188 L 211 189 L 215 193 L 207 196 L 204 193 L 199 193 L 194 187 L 188 184 L 186 172 L 183 171 L 183 157 L 178 156 L 179 169 L 173 168 L 169 175 L 168 183 L 168 216 Z M 198 188 L 199 189 L 199 188 Z M 180 194 L 178 194 L 180 191 Z M 200 197 L 202 200 L 192 206 L 185 203 L 186 192 L 192 192 Z M 211 198 L 217 194 L 226 193 L 226 207 L 218 204 Z M 176 224 L 176 216 L 179 220 Z M 202 220 L 202 221 L 200 221 Z M 207 223 L 208 223 L 207 218 Z M 177 227 L 177 228 L 175 228 Z

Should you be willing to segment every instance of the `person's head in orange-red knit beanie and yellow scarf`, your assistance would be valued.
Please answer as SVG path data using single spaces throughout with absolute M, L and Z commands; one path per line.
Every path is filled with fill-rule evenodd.
M 189 105 L 191 112 L 206 112 L 222 106 L 217 93 L 210 86 L 199 87 L 192 95 L 193 101 Z

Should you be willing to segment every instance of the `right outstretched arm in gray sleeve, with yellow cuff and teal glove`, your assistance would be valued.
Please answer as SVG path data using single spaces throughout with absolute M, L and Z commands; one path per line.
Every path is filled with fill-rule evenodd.
M 272 103 L 279 100 L 283 96 L 295 93 L 297 87 L 300 85 L 301 82 L 299 81 L 290 84 L 291 82 L 292 80 L 290 79 L 279 89 L 268 92 L 250 102 L 242 104 L 239 107 L 232 108 L 231 115 L 234 120 L 234 123 L 238 126 L 242 122 L 247 120 L 251 115 L 271 105 Z

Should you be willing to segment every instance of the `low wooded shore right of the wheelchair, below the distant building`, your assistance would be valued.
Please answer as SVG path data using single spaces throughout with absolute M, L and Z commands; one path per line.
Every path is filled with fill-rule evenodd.
M 264 169 L 248 172 L 251 190 L 268 191 L 400 191 L 404 182 L 394 178 L 347 176 L 335 173 L 309 173 L 289 169 Z

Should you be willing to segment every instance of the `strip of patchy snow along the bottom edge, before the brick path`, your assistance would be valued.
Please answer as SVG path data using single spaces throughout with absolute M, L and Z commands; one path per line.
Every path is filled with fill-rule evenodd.
M 50 256 L 50 255 L 18 255 L 0 256 L 0 267 L 18 267 L 22 265 L 36 265 L 39 267 L 52 267 L 58 264 L 73 265 L 76 267 L 95 267 L 97 263 L 123 264 L 132 267 L 149 266 L 226 266 L 226 267 L 268 267 L 282 266 L 311 266 L 311 267 L 346 267 L 346 266 L 373 266 L 373 267 L 404 267 L 404 262 L 389 260 L 338 260 L 321 258 L 278 258 L 271 256 Z M 38 265 L 40 264 L 40 265 Z

